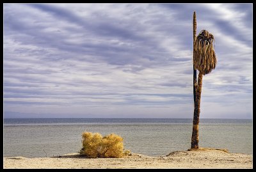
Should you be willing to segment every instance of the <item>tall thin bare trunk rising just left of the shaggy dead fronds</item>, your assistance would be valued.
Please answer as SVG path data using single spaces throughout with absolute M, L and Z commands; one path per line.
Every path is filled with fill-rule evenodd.
M 193 62 L 195 58 L 195 41 L 196 41 L 196 12 L 193 15 Z M 196 69 L 193 64 L 193 94 L 194 94 L 194 104 L 196 101 Z M 195 106 L 195 105 L 194 105 Z

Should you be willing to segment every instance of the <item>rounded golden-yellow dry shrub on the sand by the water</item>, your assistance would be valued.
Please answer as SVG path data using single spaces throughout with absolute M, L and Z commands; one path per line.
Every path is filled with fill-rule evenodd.
M 84 154 L 87 157 L 123 157 L 124 155 L 130 155 L 129 150 L 124 150 L 123 138 L 116 134 L 109 134 L 102 138 L 99 133 L 84 132 L 83 148 L 80 154 Z

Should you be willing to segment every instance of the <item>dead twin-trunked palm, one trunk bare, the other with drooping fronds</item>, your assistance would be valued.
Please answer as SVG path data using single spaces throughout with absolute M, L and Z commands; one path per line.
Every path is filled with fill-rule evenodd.
M 193 15 L 193 82 L 194 82 L 194 118 L 191 148 L 198 148 L 198 128 L 200 115 L 200 100 L 202 92 L 203 75 L 208 74 L 216 67 L 216 55 L 214 52 L 214 36 L 206 30 L 202 30 L 195 38 L 196 15 Z M 196 81 L 196 69 L 199 71 Z

